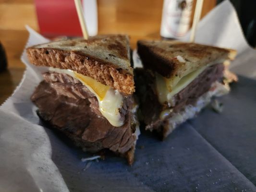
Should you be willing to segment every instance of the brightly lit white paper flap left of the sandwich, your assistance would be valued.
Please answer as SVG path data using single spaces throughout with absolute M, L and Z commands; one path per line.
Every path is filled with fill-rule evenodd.
M 31 28 L 26 47 L 49 40 Z M 42 126 L 38 125 L 36 108 L 30 95 L 42 80 L 41 72 L 27 61 L 21 84 L 0 107 L 0 191 L 59 192 L 68 191 L 58 168 L 51 160 L 51 144 Z

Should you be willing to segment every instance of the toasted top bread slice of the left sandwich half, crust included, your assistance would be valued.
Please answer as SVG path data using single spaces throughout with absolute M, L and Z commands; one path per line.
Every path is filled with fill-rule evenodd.
M 134 92 L 134 73 L 126 35 L 53 41 L 29 47 L 26 52 L 34 65 L 70 69 L 126 95 Z

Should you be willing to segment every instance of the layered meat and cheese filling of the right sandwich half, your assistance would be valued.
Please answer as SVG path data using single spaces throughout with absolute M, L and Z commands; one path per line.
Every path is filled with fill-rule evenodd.
M 168 79 L 150 70 L 136 69 L 137 95 L 146 129 L 166 137 L 180 123 L 195 116 L 212 96 L 229 92 L 223 83 L 224 65 L 215 63 L 182 77 L 170 91 Z

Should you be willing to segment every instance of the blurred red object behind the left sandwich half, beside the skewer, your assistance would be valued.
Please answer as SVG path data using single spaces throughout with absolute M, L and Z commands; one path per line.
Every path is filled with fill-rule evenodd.
M 82 36 L 73 0 L 35 0 L 40 33 L 44 36 Z

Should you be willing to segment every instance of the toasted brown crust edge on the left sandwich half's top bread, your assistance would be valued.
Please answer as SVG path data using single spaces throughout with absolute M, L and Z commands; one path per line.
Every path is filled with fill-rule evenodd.
M 134 76 L 111 63 L 99 60 L 79 51 L 55 48 L 27 48 L 28 60 L 37 66 L 70 69 L 89 76 L 113 89 L 131 95 L 135 91 Z

